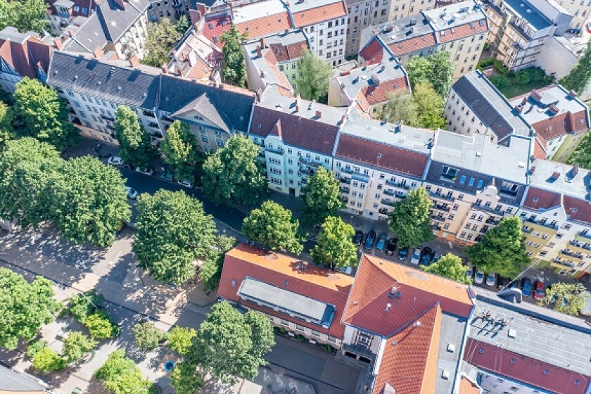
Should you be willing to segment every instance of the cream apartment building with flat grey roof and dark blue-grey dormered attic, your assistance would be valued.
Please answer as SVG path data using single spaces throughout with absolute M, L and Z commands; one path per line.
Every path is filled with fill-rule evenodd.
M 438 132 L 424 180 L 437 236 L 471 245 L 503 217 L 516 215 L 529 182 L 532 145 L 525 138 L 501 146 L 483 134 Z

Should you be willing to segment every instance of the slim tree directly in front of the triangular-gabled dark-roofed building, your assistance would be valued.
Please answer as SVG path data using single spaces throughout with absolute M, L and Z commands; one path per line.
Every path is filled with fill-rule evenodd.
M 172 122 L 160 142 L 160 153 L 165 156 L 166 164 L 172 167 L 174 178 L 188 179 L 191 182 L 195 180 L 193 174 L 200 157 L 197 141 L 188 125 L 178 120 Z

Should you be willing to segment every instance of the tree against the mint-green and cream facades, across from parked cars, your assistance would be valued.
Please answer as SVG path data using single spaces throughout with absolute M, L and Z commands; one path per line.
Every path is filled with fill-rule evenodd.
M 338 215 L 338 210 L 345 206 L 338 181 L 333 173 L 324 167 L 318 167 L 318 170 L 308 177 L 302 193 L 302 221 L 306 224 L 320 224 L 326 217 Z

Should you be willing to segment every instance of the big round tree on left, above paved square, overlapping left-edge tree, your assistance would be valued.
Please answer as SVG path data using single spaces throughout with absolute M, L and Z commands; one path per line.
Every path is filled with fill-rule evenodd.
M 49 186 L 53 224 L 75 243 L 112 244 L 132 213 L 120 172 L 90 156 L 66 160 L 59 171 Z

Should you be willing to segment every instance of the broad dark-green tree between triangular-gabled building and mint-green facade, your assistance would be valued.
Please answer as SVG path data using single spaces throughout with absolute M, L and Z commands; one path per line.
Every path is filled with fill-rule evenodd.
M 253 206 L 265 194 L 267 177 L 256 160 L 259 147 L 234 134 L 203 164 L 203 192 L 213 203 Z

